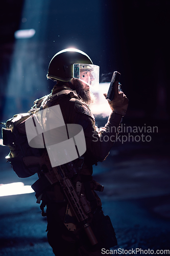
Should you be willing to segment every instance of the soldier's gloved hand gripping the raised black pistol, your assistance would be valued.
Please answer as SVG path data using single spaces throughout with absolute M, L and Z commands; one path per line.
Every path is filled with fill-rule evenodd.
M 107 94 L 104 93 L 106 98 Z M 109 102 L 109 101 L 108 101 Z M 118 81 L 114 84 L 114 98 L 109 102 L 110 108 L 113 112 L 125 116 L 128 108 L 129 99 L 123 92 L 118 91 Z

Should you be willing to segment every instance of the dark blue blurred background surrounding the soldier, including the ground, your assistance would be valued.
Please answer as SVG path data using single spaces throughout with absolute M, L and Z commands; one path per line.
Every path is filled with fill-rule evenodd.
M 113 71 L 119 71 L 130 99 L 123 123 L 157 126 L 158 133 L 149 143 L 116 142 L 108 160 L 94 167 L 94 179 L 106 187 L 100 196 L 116 230 L 117 248 L 168 249 L 170 2 L 6 0 L 1 7 L 0 120 L 27 112 L 36 98 L 51 92 L 54 84 L 46 79 L 47 67 L 60 50 L 86 52 L 100 66 L 101 82 L 109 82 Z M 36 33 L 15 39 L 18 29 Z M 96 117 L 99 126 L 106 122 Z M 8 152 L 1 146 L 4 184 L 21 180 L 5 163 Z M 35 180 L 26 179 L 26 184 Z M 33 194 L 1 198 L 2 255 L 51 251 L 34 201 Z

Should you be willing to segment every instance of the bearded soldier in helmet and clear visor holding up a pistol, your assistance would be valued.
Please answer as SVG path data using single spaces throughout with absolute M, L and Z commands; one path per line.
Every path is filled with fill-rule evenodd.
M 108 222 L 106 223 L 101 200 L 94 191 L 102 191 L 103 187 L 93 181 L 92 165 L 103 161 L 109 154 L 114 141 L 113 139 L 106 141 L 102 138 L 107 135 L 108 138 L 112 136 L 116 139 L 115 129 L 111 128 L 117 129 L 119 126 L 122 117 L 126 114 L 128 99 L 123 92 L 118 92 L 118 82 L 116 82 L 115 97 L 109 102 L 111 114 L 108 122 L 105 127 L 98 130 L 88 105 L 94 102 L 90 87 L 99 83 L 99 67 L 93 65 L 89 56 L 76 49 L 58 52 L 50 62 L 47 78 L 56 81 L 51 95 L 64 95 L 52 103 L 52 105 L 60 105 L 64 122 L 80 124 L 83 127 L 86 152 L 83 158 L 74 161 L 79 172 L 72 182 L 74 184 L 79 182 L 81 186 L 81 192 L 79 192 L 86 196 L 90 205 L 90 225 L 98 244 L 95 246 L 90 244 L 74 214 L 71 216 L 71 209 L 68 212 L 69 205 L 59 183 L 45 189 L 41 198 L 41 209 L 46 205 L 48 242 L 56 256 L 102 255 L 102 248 L 109 249 L 117 243 L 114 229 L 111 225 L 109 226 Z M 106 94 L 104 96 L 106 97 Z M 43 103 L 41 108 L 43 108 Z M 68 217 L 69 220 L 66 220 Z M 72 223 L 75 226 L 74 231 L 70 231 L 64 222 Z

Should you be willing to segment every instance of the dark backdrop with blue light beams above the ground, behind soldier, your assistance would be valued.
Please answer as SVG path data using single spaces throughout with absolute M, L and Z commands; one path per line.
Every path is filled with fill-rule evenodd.
M 27 111 L 36 96 L 51 92 L 48 63 L 58 51 L 75 47 L 100 66 L 101 82 L 107 74 L 109 81 L 115 70 L 122 73 L 130 99 L 128 116 L 169 120 L 169 9 L 168 0 L 5 1 L 0 27 L 1 119 L 8 117 L 3 108 L 9 98 L 13 103 L 21 99 L 20 105 L 15 102 L 19 113 Z M 36 30 L 34 37 L 14 39 L 16 30 L 31 28 Z M 9 96 L 10 88 L 17 93 Z

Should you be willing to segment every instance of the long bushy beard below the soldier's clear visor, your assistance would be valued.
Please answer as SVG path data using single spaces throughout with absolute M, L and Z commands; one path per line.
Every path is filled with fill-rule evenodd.
M 95 103 L 96 98 L 94 94 L 91 93 L 90 90 L 85 91 L 81 82 L 78 79 L 74 79 L 74 86 L 76 88 L 77 94 L 82 98 L 84 103 L 86 103 L 87 105 L 92 105 Z

